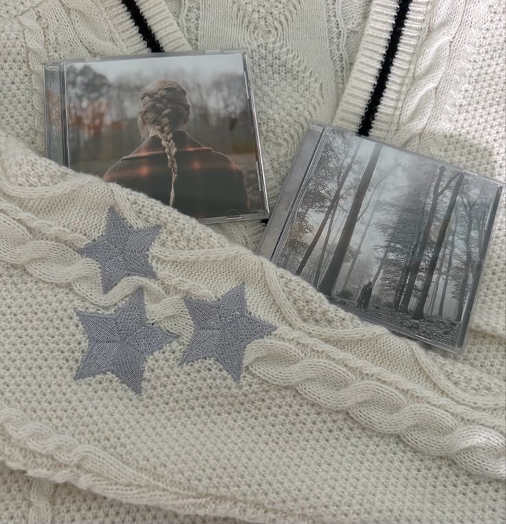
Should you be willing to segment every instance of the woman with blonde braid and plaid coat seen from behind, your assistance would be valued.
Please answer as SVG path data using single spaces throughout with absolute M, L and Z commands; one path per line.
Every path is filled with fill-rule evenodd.
M 249 213 L 239 166 L 184 131 L 190 119 L 184 88 L 173 80 L 155 80 L 142 89 L 139 101 L 137 124 L 144 141 L 109 168 L 104 180 L 195 218 Z

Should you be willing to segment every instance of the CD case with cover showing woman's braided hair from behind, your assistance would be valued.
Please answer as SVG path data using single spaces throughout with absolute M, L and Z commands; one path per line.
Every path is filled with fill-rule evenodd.
M 267 218 L 243 50 L 44 65 L 46 154 L 203 223 Z

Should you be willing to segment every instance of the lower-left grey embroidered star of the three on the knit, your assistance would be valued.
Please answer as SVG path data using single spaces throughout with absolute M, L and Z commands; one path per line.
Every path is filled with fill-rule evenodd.
M 76 379 L 111 372 L 140 394 L 146 356 L 177 339 L 148 323 L 140 290 L 113 315 L 76 313 L 89 339 Z

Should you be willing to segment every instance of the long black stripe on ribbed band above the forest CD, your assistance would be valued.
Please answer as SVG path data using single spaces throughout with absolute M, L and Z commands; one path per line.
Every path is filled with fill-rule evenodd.
M 382 66 L 380 72 L 377 75 L 376 84 L 374 86 L 373 92 L 371 93 L 369 104 L 367 104 L 366 111 L 364 112 L 364 116 L 362 117 L 362 122 L 360 123 L 360 128 L 358 130 L 358 133 L 364 137 L 369 136 L 369 132 L 373 126 L 377 110 L 380 107 L 382 96 L 386 89 L 388 75 L 390 75 L 393 60 L 395 58 L 395 54 L 397 54 L 401 35 L 404 30 L 404 24 L 406 23 L 406 18 L 408 16 L 410 3 L 411 0 L 399 0 L 399 8 L 395 14 L 395 20 L 390 38 L 388 40 L 388 46 L 386 47 Z

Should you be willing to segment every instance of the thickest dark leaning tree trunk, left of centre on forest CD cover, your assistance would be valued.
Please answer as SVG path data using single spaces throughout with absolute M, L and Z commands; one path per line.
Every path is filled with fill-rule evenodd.
M 319 291 L 328 297 L 331 296 L 333 286 L 336 284 L 336 280 L 338 280 L 342 263 L 344 262 L 344 257 L 351 241 L 351 236 L 353 236 L 353 231 L 355 230 L 355 223 L 358 214 L 360 213 L 362 202 L 364 201 L 367 189 L 371 183 L 381 151 L 382 144 L 375 144 L 373 152 L 371 152 L 371 157 L 369 157 L 369 162 L 364 170 L 364 174 L 362 175 L 362 179 L 358 185 L 357 192 L 355 193 L 355 198 L 353 198 L 353 203 L 351 204 L 347 220 L 342 228 L 341 236 L 330 262 L 329 269 L 325 273 L 322 282 L 320 282 L 320 286 L 318 287 Z

